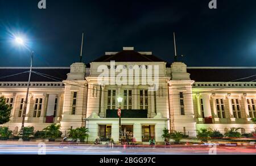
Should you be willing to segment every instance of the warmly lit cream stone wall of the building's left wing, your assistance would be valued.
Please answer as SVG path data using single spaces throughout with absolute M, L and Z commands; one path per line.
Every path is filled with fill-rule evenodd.
M 31 84 L 34 84 L 33 82 Z M 45 83 L 39 83 L 45 84 Z M 5 97 L 12 97 L 13 98 L 13 109 L 11 110 L 11 120 L 4 125 L 1 126 L 8 126 L 10 130 L 15 130 L 15 127 L 18 127 L 20 130 L 22 125 L 22 117 L 18 117 L 19 108 L 20 108 L 20 101 L 23 98 L 25 101 L 26 98 L 26 87 L 19 87 L 19 88 L 11 88 L 11 87 L 1 87 L 0 88 L 0 96 Z M 47 95 L 48 94 L 56 94 L 58 97 L 58 107 L 57 107 L 57 114 L 56 117 L 53 119 L 56 123 L 60 123 L 60 116 L 58 114 L 62 114 L 62 105 L 63 105 L 63 94 L 64 88 L 49 88 L 49 87 L 31 87 L 28 95 L 28 104 L 27 104 L 27 111 L 26 111 L 26 118 L 24 126 L 34 126 L 35 130 L 42 130 L 46 126 L 51 125 L 46 123 L 46 108 L 47 108 Z M 34 112 L 34 104 L 36 98 L 42 98 L 42 110 L 40 117 L 33 117 Z M 24 106 L 24 104 L 23 104 Z

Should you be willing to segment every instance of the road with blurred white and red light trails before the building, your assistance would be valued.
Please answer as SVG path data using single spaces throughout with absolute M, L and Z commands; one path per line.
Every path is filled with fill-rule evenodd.
M 180 146 L 150 146 L 127 147 L 95 146 L 88 144 L 44 144 L 44 143 L 0 143 L 0 154 L 72 154 L 72 155 L 187 155 L 187 154 L 256 154 L 253 146 L 208 146 L 208 145 L 180 145 Z

